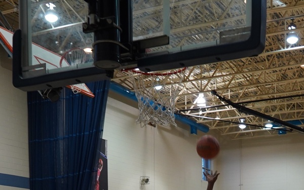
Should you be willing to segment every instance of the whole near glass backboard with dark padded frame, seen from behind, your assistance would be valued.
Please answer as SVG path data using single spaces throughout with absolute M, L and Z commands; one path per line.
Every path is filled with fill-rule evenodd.
M 103 80 L 113 69 L 154 71 L 255 56 L 264 47 L 265 0 L 19 3 L 13 84 L 25 91 Z M 57 21 L 46 20 L 50 10 Z M 59 56 L 39 59 L 44 53 L 35 46 Z M 93 54 L 81 64 L 60 64 L 66 52 L 88 47 Z

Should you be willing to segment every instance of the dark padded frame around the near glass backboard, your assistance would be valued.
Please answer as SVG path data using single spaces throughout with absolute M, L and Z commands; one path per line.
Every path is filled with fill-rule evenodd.
M 94 2 L 94 0 L 86 2 Z M 132 0 L 126 2 L 125 3 L 130 9 L 130 7 L 132 7 Z M 267 2 L 266 0 L 252 0 L 247 1 L 247 4 L 249 3 L 251 3 L 251 10 L 254 11 L 250 12 L 251 33 L 248 40 L 175 53 L 164 52 L 162 54 L 145 54 L 143 53 L 144 50 L 137 47 L 140 42 L 133 42 L 132 39 L 130 39 L 130 34 L 128 34 L 126 37 L 123 37 L 125 40 L 123 43 L 128 44 L 126 39 L 130 40 L 129 49 L 131 51 L 129 54 L 131 56 L 130 59 L 127 59 L 125 62 L 124 60 L 120 60 L 121 67 L 118 69 L 138 67 L 141 71 L 149 72 L 257 56 L 263 51 L 265 46 Z M 20 12 L 22 12 L 20 15 L 28 15 L 28 11 L 31 10 L 30 1 L 20 0 L 19 4 Z M 132 18 L 130 11 L 127 11 L 126 14 L 128 14 L 128 17 L 126 17 L 126 15 L 125 17 L 124 15 L 120 16 L 124 17 L 124 19 Z M 30 23 L 29 18 L 21 16 L 20 23 Z M 131 25 L 132 21 L 128 24 Z M 47 73 L 45 75 L 32 76 L 31 74 L 28 74 L 30 77 L 27 77 L 24 75 L 24 68 L 28 66 L 31 59 L 28 56 L 29 53 L 31 53 L 31 35 L 28 35 L 30 34 L 31 28 L 27 25 L 21 25 L 20 27 L 21 30 L 17 30 L 13 37 L 13 85 L 16 88 L 24 91 L 44 90 L 72 84 L 100 81 L 112 77 L 113 69 L 100 69 L 94 67 L 94 65 L 74 70 L 63 70 L 57 73 Z M 128 29 L 127 32 L 132 32 L 132 26 L 125 26 L 124 28 Z M 96 35 L 97 32 L 99 31 L 94 31 L 94 34 Z M 94 61 L 96 61 L 95 57 Z

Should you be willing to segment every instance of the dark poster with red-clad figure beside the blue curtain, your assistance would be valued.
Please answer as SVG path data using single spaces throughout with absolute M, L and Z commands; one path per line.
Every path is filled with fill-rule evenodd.
M 98 159 L 96 163 L 97 172 L 94 175 L 94 190 L 108 190 L 106 143 L 107 141 L 102 139 L 100 149 L 98 150 Z

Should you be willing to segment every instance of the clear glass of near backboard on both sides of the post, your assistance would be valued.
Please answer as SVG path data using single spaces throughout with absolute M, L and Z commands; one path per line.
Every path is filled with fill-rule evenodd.
M 251 1 L 243 0 L 133 0 L 133 41 L 168 35 L 170 44 L 149 48 L 147 53 L 178 52 L 245 41 L 250 36 Z M 249 8 L 248 8 L 249 7 Z M 47 21 L 54 12 L 58 20 Z M 76 66 L 92 65 L 91 53 L 75 48 L 92 48 L 93 32 L 85 34 L 88 5 L 83 0 L 31 2 L 32 64 L 46 63 L 47 70 L 68 67 L 66 54 Z M 70 52 L 71 51 L 71 52 Z M 74 55 L 74 54 L 73 54 Z M 74 64 L 73 64 L 74 65 Z M 75 66 L 75 65 L 74 65 Z

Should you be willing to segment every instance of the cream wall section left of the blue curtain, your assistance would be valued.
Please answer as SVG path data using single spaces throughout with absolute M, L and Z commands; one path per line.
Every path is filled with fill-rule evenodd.
M 1 48 L 2 49 L 2 48 Z M 1 65 L 7 58 L 1 54 Z M 12 85 L 12 72 L 0 66 L 0 189 L 16 176 L 29 177 L 26 92 Z M 19 183 L 18 181 L 14 183 Z

